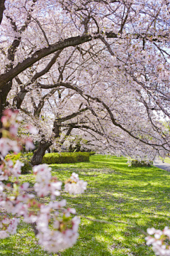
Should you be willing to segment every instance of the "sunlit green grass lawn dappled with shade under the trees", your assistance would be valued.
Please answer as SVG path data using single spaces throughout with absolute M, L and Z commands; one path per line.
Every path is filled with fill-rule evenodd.
M 94 155 L 89 163 L 51 165 L 52 174 L 62 181 L 73 171 L 88 181 L 84 194 L 60 196 L 77 209 L 81 225 L 77 244 L 59 255 L 154 255 L 142 230 L 163 229 L 170 223 L 170 173 L 156 167 L 132 168 L 126 162 L 123 157 Z M 34 183 L 32 174 L 21 178 Z M 29 225 L 21 223 L 18 231 L 1 240 L 0 255 L 49 255 L 40 249 Z

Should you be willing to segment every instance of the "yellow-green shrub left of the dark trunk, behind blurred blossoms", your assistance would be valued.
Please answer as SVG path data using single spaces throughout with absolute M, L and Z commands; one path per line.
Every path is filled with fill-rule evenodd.
M 16 161 L 19 160 L 21 161 L 24 166 L 21 167 L 21 174 L 28 174 L 28 172 L 32 169 L 31 164 L 30 164 L 30 159 L 33 156 L 33 154 L 28 153 L 28 154 L 8 154 L 6 155 L 5 159 L 7 160 L 12 160 L 13 164 L 16 164 Z

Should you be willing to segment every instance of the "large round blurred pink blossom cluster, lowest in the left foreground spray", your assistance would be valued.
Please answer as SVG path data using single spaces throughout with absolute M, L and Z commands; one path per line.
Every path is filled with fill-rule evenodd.
M 40 218 L 38 220 L 38 238 L 40 245 L 48 250 L 48 252 L 57 252 L 74 245 L 78 237 L 78 228 L 80 220 L 75 216 L 72 218 L 70 213 L 75 213 L 72 208 L 64 209 L 66 201 L 51 203 L 47 207 L 41 207 Z M 62 214 L 58 211 L 53 215 L 53 227 L 49 228 L 48 218 L 50 210 L 53 208 L 63 210 Z M 43 222 L 42 222 L 43 220 Z M 69 225 L 69 228 L 67 228 Z M 70 228 L 71 227 L 71 228 Z

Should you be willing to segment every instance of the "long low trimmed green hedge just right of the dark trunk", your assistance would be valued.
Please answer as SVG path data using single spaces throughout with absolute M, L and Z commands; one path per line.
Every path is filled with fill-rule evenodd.
M 47 153 L 42 158 L 42 164 L 74 164 L 89 161 L 89 153 L 86 152 L 63 152 Z

